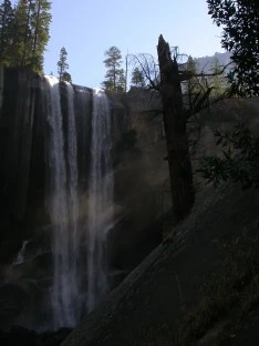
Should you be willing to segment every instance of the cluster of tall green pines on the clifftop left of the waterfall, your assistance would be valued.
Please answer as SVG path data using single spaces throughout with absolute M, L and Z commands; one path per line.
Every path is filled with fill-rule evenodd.
M 15 8 L 0 7 L 0 58 L 8 67 L 28 67 L 42 72 L 43 53 L 50 39 L 51 2 L 19 0 Z

